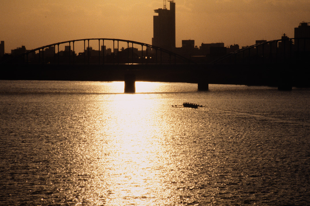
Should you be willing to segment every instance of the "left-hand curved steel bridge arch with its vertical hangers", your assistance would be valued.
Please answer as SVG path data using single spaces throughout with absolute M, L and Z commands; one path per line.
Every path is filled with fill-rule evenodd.
M 169 56 L 169 63 L 171 64 L 172 61 L 174 60 L 174 63 L 177 63 L 177 59 L 178 60 L 181 60 L 183 61 L 183 63 L 188 63 L 188 64 L 195 64 L 192 60 L 190 59 L 187 59 L 175 52 L 171 52 L 169 50 L 166 50 L 166 49 L 163 49 L 161 47 L 157 47 L 157 46 L 154 46 L 154 45 L 151 45 L 151 44 L 147 44 L 147 43 L 141 43 L 141 42 L 136 42 L 136 41 L 131 41 L 131 40 L 124 40 L 124 39 L 115 39 L 115 38 L 86 38 L 86 39 L 77 39 L 77 40 L 69 40 L 69 41 L 64 41 L 64 42 L 59 42 L 59 43 L 53 43 L 53 44 L 49 44 L 49 45 L 46 45 L 46 46 L 43 46 L 43 47 L 38 47 L 36 49 L 32 49 L 30 51 L 27 51 L 27 52 L 24 52 L 22 54 L 19 54 L 17 56 L 14 56 L 14 57 L 11 57 L 7 60 L 4 60 L 1 62 L 1 64 L 5 64 L 5 63 L 12 63 L 15 59 L 18 59 L 18 58 L 23 58 L 23 62 L 24 64 L 28 64 L 29 63 L 29 59 L 28 59 L 28 56 L 29 54 L 31 53 L 34 53 L 34 52 L 37 52 L 38 51 L 38 58 L 39 58 L 39 61 L 38 63 L 39 64 L 45 64 L 44 62 L 44 49 L 45 48 L 48 48 L 48 47 L 53 47 L 54 46 L 54 64 L 59 64 L 59 46 L 61 44 L 67 44 L 69 43 L 69 47 L 70 47 L 70 52 L 69 52 L 69 64 L 71 64 L 71 58 L 72 58 L 72 64 L 75 64 L 75 55 L 74 55 L 74 43 L 76 42 L 80 42 L 80 41 L 83 41 L 84 42 L 84 64 L 86 64 L 86 52 L 87 52 L 87 57 L 88 57 L 88 60 L 87 60 L 87 63 L 89 64 L 90 63 L 90 47 L 89 47 L 89 42 L 90 41 L 93 41 L 93 40 L 97 40 L 98 43 L 99 43 L 99 53 L 98 53 L 98 56 L 99 56 L 99 61 L 98 61 L 98 64 L 105 64 L 104 62 L 104 51 L 101 51 L 100 52 L 100 42 L 102 41 L 103 43 L 103 46 L 104 46 L 104 41 L 113 41 L 113 64 L 119 64 L 119 58 L 118 58 L 118 54 L 119 54 L 119 42 L 125 42 L 127 43 L 127 63 L 126 64 L 133 64 L 133 56 L 134 56 L 134 52 L 133 52 L 133 49 L 131 51 L 131 57 L 132 57 L 132 62 L 130 63 L 129 62 L 129 55 L 130 55 L 130 44 L 132 45 L 132 48 L 133 48 L 133 45 L 140 45 L 141 46 L 141 51 L 142 51 L 142 57 L 144 57 L 144 54 L 143 54 L 143 49 L 144 47 L 146 47 L 146 54 L 145 54 L 145 57 L 146 57 L 146 62 L 145 64 L 148 64 L 148 56 L 151 52 L 148 52 L 148 48 L 151 48 L 153 50 L 155 50 L 155 63 L 157 64 L 158 62 L 158 59 L 159 59 L 159 63 L 162 64 L 162 56 L 163 54 L 166 54 Z M 86 50 L 85 46 L 86 46 L 86 41 L 87 41 L 87 44 L 88 44 L 88 50 Z M 73 55 L 71 57 L 71 43 L 72 43 L 72 46 L 73 46 Z M 116 62 L 114 61 L 115 60 L 115 52 L 114 52 L 114 48 L 115 48 L 115 43 L 117 43 L 117 60 Z M 57 45 L 57 55 L 56 55 L 56 45 Z M 102 54 L 101 54 L 102 53 Z M 153 54 L 153 53 L 152 53 Z M 100 56 L 102 55 L 102 62 L 100 62 Z M 56 57 L 57 56 L 57 57 Z M 158 58 L 158 56 L 160 58 Z M 172 57 L 174 57 L 174 59 L 172 59 Z M 42 60 L 41 60 L 42 58 Z M 56 60 L 57 59 L 57 60 Z M 57 63 L 56 63 L 57 62 Z M 178 61 L 179 62 L 179 61 Z M 142 62 L 143 64 L 143 62 Z

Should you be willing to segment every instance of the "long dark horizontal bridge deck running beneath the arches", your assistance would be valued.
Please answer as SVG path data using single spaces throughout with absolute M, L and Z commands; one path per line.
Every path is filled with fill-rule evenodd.
M 282 82 L 309 87 L 309 69 L 299 64 L 105 64 L 105 65 L 2 65 L 0 79 L 136 81 L 209 84 L 270 85 Z

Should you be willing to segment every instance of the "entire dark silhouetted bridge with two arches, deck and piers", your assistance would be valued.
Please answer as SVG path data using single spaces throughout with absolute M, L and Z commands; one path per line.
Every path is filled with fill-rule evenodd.
M 99 50 L 93 55 L 90 41 Z M 100 46 L 113 42 L 117 49 L 106 54 Z M 75 44 L 84 43 L 84 52 L 75 55 Z M 123 51 L 119 43 L 127 44 Z M 60 45 L 69 51 L 60 56 Z M 86 48 L 87 44 L 87 48 Z M 134 45 L 141 47 L 141 53 Z M 57 53 L 56 53 L 57 46 Z M 71 51 L 71 46 L 73 50 Z M 47 49 L 54 47 L 52 54 Z M 145 48 L 145 50 L 144 50 Z M 5 79 L 137 81 L 198 83 L 199 90 L 209 84 L 277 86 L 279 89 L 310 87 L 310 38 L 272 40 L 241 48 L 211 63 L 195 64 L 174 52 L 153 45 L 112 38 L 89 38 L 54 43 L 24 52 L 2 62 Z M 12 69 L 15 67 L 14 69 Z M 129 76 L 126 76 L 126 75 Z

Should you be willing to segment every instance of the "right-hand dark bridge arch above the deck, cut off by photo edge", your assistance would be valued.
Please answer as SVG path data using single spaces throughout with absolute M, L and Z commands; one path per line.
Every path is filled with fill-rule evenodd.
M 310 58 L 310 38 L 287 38 L 241 48 L 212 64 L 298 62 Z

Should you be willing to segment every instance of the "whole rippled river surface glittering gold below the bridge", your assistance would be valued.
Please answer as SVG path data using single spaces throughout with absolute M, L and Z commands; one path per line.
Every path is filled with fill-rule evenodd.
M 309 205 L 310 89 L 209 88 L 1 80 L 0 205 Z

